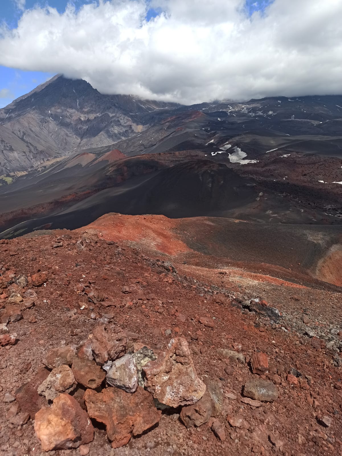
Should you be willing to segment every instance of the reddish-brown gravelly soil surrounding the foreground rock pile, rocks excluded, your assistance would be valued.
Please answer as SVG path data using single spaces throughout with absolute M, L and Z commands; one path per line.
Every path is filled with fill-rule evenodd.
M 139 217 L 133 223 L 130 218 L 130 231 L 128 219 L 120 228 L 120 217 L 112 216 L 112 226 L 110 218 L 83 230 L 0 241 L 0 316 L 12 293 L 33 295 L 35 301 L 30 308 L 24 306 L 20 320 L 8 323 L 7 331 L 0 330 L 1 340 L 5 335 L 16 338 L 15 345 L 0 347 L 0 454 L 45 454 L 33 421 L 20 424 L 24 417 L 16 415 L 15 392 L 36 375 L 48 350 L 77 346 L 100 324 L 119 326 L 131 345 L 148 345 L 157 353 L 172 337 L 184 337 L 199 377 L 214 383 L 223 395 L 216 419 L 225 438 L 214 435 L 213 419 L 187 429 L 179 420 L 180 409 L 171 409 L 150 432 L 116 450 L 111 449 L 104 427 L 94 420 L 95 438 L 81 454 L 87 450 L 91 456 L 340 454 L 341 293 L 259 282 L 255 274 L 239 278 L 238 269 L 232 277 L 232 272 L 225 274 L 222 269 L 173 263 L 175 271 L 155 254 L 148 255 L 144 243 L 137 243 L 140 249 L 106 240 L 115 235 L 115 224 L 119 238 L 127 229 L 127 239 L 137 239 L 139 233 L 146 239 L 155 236 L 155 245 L 164 248 L 165 233 L 157 219 L 146 222 Z M 159 222 L 173 229 L 163 218 Z M 94 234 L 99 228 L 102 236 Z M 179 240 L 175 242 L 180 249 Z M 61 245 L 54 247 L 56 243 Z M 23 288 L 15 283 L 20 275 L 27 277 Z M 37 277 L 43 277 L 44 283 Z M 42 285 L 34 285 L 38 283 Z M 94 299 L 99 295 L 101 299 Z M 259 306 L 251 301 L 257 297 Z M 219 349 L 240 352 L 245 362 L 225 358 Z M 255 407 L 243 402 L 243 391 L 248 381 L 260 378 L 250 368 L 250 358 L 258 352 L 264 353 L 269 365 L 262 378 L 276 388 L 278 397 Z M 71 394 L 86 409 L 84 389 Z M 30 400 L 25 404 L 31 405 Z M 78 456 L 80 450 L 54 454 Z

